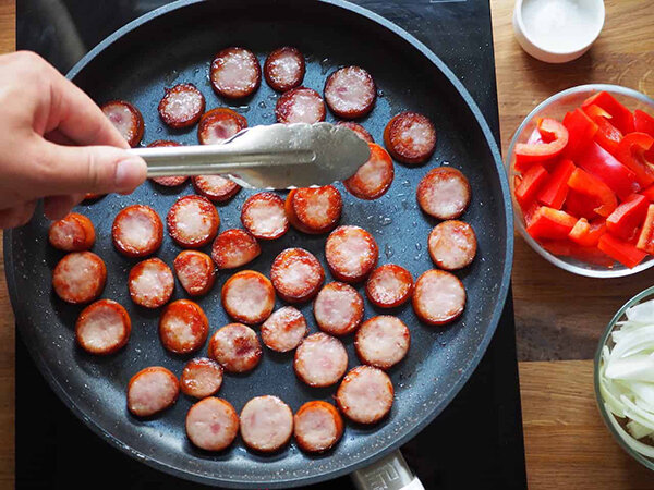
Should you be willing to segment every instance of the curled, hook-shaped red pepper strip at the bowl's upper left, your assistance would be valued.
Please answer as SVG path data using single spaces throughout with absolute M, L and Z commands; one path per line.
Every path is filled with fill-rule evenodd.
M 522 172 L 534 162 L 558 157 L 568 144 L 568 130 L 554 119 L 544 118 L 538 120 L 536 128 L 541 134 L 541 142 L 518 143 L 516 145 L 514 166 L 519 172 Z M 533 133 L 530 139 L 532 137 Z

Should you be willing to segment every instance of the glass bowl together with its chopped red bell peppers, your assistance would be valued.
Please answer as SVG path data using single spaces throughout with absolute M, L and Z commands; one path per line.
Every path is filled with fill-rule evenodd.
M 549 97 L 507 155 L 516 225 L 548 261 L 596 278 L 654 266 L 654 100 L 616 85 Z

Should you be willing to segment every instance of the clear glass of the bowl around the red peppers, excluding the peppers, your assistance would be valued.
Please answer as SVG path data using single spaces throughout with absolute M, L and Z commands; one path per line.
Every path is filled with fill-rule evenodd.
M 529 243 L 538 255 L 555 266 L 579 275 L 586 275 L 590 278 L 619 278 L 622 275 L 631 275 L 649 269 L 650 267 L 654 266 L 654 257 L 646 257 L 641 264 L 632 269 L 629 269 L 628 267 L 625 267 L 618 262 L 608 268 L 594 264 L 588 264 L 572 257 L 562 257 L 550 254 L 534 238 L 532 238 L 529 233 L 526 233 L 524 218 L 522 217 L 520 206 L 518 206 L 518 203 L 516 201 L 513 188 L 516 180 L 514 176 L 518 175 L 518 172 L 513 170 L 512 166 L 516 145 L 518 143 L 526 143 L 530 135 L 536 127 L 536 121 L 540 118 L 554 118 L 557 121 L 562 121 L 566 112 L 580 107 L 585 99 L 602 90 L 608 91 L 631 111 L 640 109 L 649 112 L 650 114 L 654 114 L 654 100 L 646 95 L 631 88 L 620 87 L 618 85 L 602 84 L 580 85 L 578 87 L 568 88 L 541 102 L 533 111 L 530 112 L 524 121 L 522 121 L 522 124 L 520 124 L 518 131 L 516 131 L 516 134 L 511 139 L 511 144 L 509 145 L 509 151 L 506 156 L 505 166 L 507 168 L 509 185 L 511 187 L 511 199 L 513 201 L 516 228 L 526 243 Z

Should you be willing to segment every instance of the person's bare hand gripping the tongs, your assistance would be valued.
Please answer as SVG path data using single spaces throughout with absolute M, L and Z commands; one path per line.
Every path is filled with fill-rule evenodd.
M 129 194 L 145 162 L 95 102 L 38 54 L 0 56 L 0 228 L 25 224 L 37 199 L 52 220 L 86 193 Z

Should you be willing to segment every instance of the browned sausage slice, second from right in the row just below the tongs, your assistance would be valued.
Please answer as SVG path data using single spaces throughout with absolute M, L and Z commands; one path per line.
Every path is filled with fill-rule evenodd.
M 277 194 L 250 196 L 241 208 L 241 222 L 255 238 L 275 240 L 289 231 L 283 199 Z

